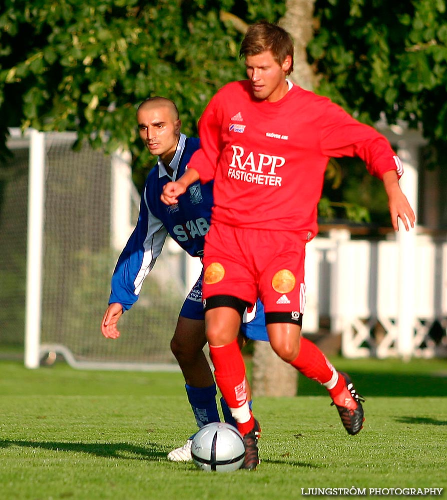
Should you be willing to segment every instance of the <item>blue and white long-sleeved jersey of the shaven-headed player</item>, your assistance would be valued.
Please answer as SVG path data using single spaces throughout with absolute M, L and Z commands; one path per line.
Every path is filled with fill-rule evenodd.
M 112 275 L 109 304 L 118 302 L 128 310 L 137 301 L 145 277 L 160 255 L 166 236 L 170 234 L 190 255 L 202 256 L 213 205 L 213 183 L 197 181 L 180 196 L 177 205 L 165 205 L 160 195 L 163 186 L 178 179 L 185 171 L 191 155 L 199 148 L 199 139 L 181 134 L 168 175 L 159 159 L 149 172 L 140 203 L 137 225 L 124 247 Z

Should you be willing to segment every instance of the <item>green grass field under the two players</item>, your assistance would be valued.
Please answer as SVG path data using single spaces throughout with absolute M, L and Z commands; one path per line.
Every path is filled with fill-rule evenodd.
M 447 361 L 332 361 L 366 397 L 363 430 L 349 436 L 325 390 L 300 377 L 297 397 L 255 400 L 262 461 L 231 473 L 166 459 L 194 430 L 180 373 L 2 361 L 0 498 L 282 500 L 330 492 L 311 488 L 366 488 L 358 496 L 368 497 L 379 496 L 369 488 L 389 488 L 381 496 L 447 489 Z

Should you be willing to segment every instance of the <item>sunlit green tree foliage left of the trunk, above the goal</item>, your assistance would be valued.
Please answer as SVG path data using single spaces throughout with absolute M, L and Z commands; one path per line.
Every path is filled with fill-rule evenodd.
M 5 0 L 0 144 L 8 126 L 32 126 L 140 156 L 135 106 L 153 95 L 175 100 L 193 133 L 213 93 L 243 76 L 231 14 L 275 21 L 283 10 L 261 0 Z

